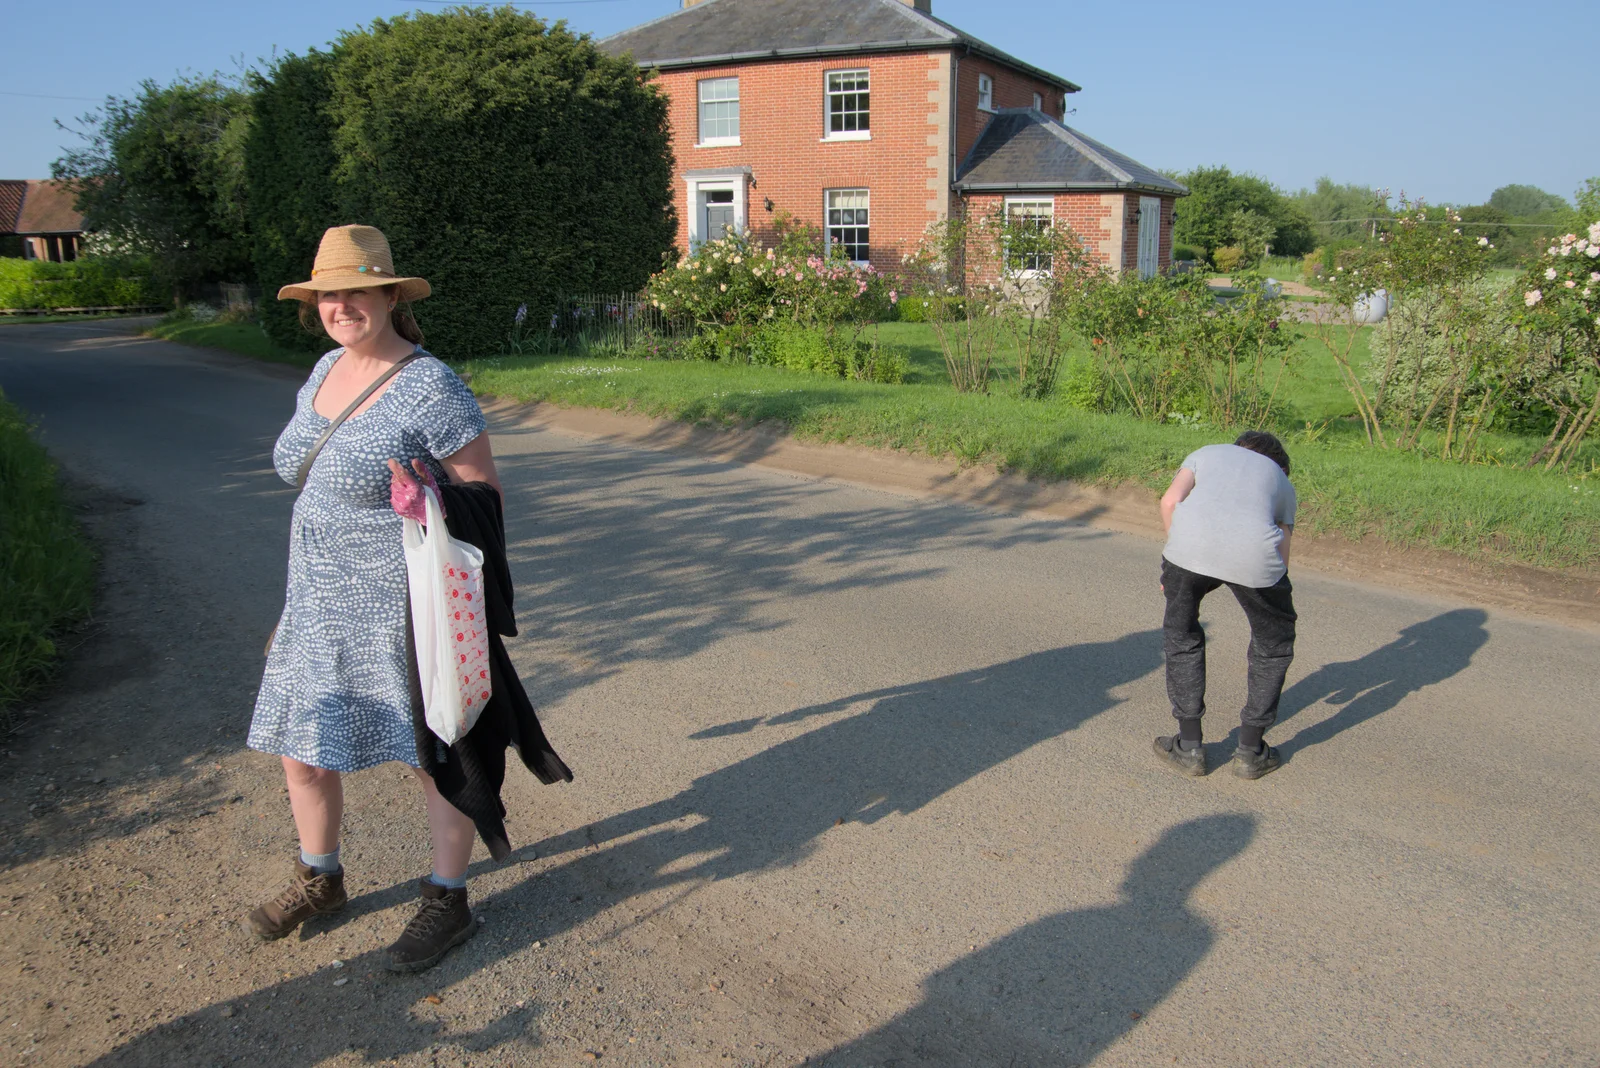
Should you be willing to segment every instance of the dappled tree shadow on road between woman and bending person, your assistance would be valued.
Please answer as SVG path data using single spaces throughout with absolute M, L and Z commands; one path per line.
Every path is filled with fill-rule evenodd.
M 536 432 L 501 436 L 518 433 Z M 880 497 L 862 505 L 840 500 L 837 488 L 701 457 L 541 446 L 498 459 L 518 624 L 544 654 L 512 656 L 528 664 L 536 703 L 629 664 L 682 659 L 731 635 L 776 630 L 798 598 L 931 577 L 939 572 L 931 553 L 1000 555 L 1107 537 L 938 502 Z

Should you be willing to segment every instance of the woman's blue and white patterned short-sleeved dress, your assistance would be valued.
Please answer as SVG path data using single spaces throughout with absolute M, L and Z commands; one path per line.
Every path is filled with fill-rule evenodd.
M 342 352 L 317 363 L 272 449 L 290 484 L 330 422 L 312 400 Z M 328 438 L 294 502 L 288 596 L 256 695 L 251 748 L 331 771 L 416 766 L 402 520 L 389 507 L 386 460 L 410 468 L 421 459 L 445 481 L 438 460 L 483 428 L 466 382 L 422 355 Z

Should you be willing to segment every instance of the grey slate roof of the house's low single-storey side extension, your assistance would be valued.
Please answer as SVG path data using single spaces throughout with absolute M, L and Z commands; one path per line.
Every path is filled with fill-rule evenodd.
M 1032 107 L 1003 107 L 955 173 L 955 189 L 1139 190 L 1187 197 L 1189 189 Z

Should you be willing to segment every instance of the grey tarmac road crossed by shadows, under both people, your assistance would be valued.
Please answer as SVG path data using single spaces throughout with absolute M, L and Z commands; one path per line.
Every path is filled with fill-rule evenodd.
M 1190 780 L 1149 751 L 1157 544 L 510 422 L 512 656 L 578 779 L 512 774 L 523 849 L 434 972 L 374 967 L 426 870 L 392 767 L 352 915 L 250 945 L 302 373 L 123 329 L 0 326 L 107 568 L 0 761 L 16 1063 L 1600 1063 L 1600 635 L 1296 572 L 1250 783 L 1216 595 Z

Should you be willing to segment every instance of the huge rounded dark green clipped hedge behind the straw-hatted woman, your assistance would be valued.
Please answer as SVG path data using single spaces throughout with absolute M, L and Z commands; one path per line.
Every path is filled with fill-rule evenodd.
M 510 8 L 373 22 L 254 80 L 246 200 L 264 325 L 304 345 L 280 285 L 323 229 L 384 230 L 426 277 L 445 358 L 496 352 L 520 304 L 643 286 L 672 246 L 667 102 L 629 61 Z

